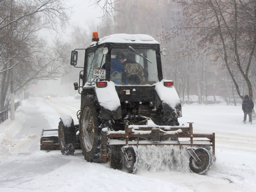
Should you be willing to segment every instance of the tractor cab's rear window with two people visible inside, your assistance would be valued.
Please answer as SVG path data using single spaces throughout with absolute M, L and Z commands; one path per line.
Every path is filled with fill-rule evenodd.
M 158 82 L 154 49 L 112 49 L 110 81 L 117 85 L 152 85 Z

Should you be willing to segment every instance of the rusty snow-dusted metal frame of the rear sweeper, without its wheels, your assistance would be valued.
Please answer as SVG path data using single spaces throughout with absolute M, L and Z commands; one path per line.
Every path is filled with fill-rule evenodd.
M 126 123 L 125 131 L 108 131 L 107 128 L 102 129 L 102 148 L 101 159 L 102 162 L 107 162 L 108 145 L 179 145 L 180 148 L 184 148 L 195 159 L 200 161 L 194 152 L 193 146 L 212 146 L 212 155 L 215 160 L 215 133 L 211 132 L 195 132 L 193 133 L 192 122 L 189 122 L 189 126 L 157 126 L 149 127 L 141 125 L 146 123 L 150 119 L 138 123 L 139 125 L 129 125 Z M 124 140 L 118 140 L 117 138 L 124 138 Z M 139 141 L 139 138 L 148 138 L 150 141 Z M 168 141 L 169 138 L 177 138 L 177 141 Z M 178 138 L 190 138 L 189 141 L 179 141 Z M 205 140 L 193 140 L 193 138 L 207 138 Z M 137 141 L 134 141 L 137 139 Z M 183 147 L 190 146 L 190 147 Z

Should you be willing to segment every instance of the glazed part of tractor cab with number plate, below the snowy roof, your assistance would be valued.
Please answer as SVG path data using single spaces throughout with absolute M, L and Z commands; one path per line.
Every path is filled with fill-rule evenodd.
M 117 86 L 153 85 L 162 80 L 159 51 L 159 45 L 138 47 L 133 43 L 104 43 L 89 47 L 83 80 L 89 84 L 104 80 Z

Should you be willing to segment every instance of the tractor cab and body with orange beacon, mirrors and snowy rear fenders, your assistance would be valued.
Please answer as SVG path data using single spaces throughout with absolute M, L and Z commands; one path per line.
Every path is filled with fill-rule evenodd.
M 102 119 L 135 123 L 150 117 L 159 125 L 179 125 L 180 100 L 173 82 L 163 80 L 161 54 L 166 56 L 168 51 L 160 50 L 149 35 L 115 34 L 99 39 L 94 33 L 85 49 L 82 86 L 74 83 L 75 89 L 82 88 L 81 110 L 84 99 L 95 95 Z M 72 51 L 71 65 L 76 65 L 77 57 L 77 51 Z M 162 93 L 169 94 L 168 101 L 161 98 L 165 97 Z

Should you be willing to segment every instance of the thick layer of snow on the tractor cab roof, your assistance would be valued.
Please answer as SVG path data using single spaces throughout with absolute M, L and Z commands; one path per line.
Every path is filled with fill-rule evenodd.
M 92 42 L 90 44 L 94 45 L 96 42 Z M 106 37 L 103 37 L 99 39 L 98 45 L 102 43 L 150 43 L 150 44 L 160 44 L 158 41 L 156 41 L 153 37 L 149 35 L 144 34 L 136 34 L 136 35 L 130 35 L 130 34 L 114 34 L 109 35 Z

